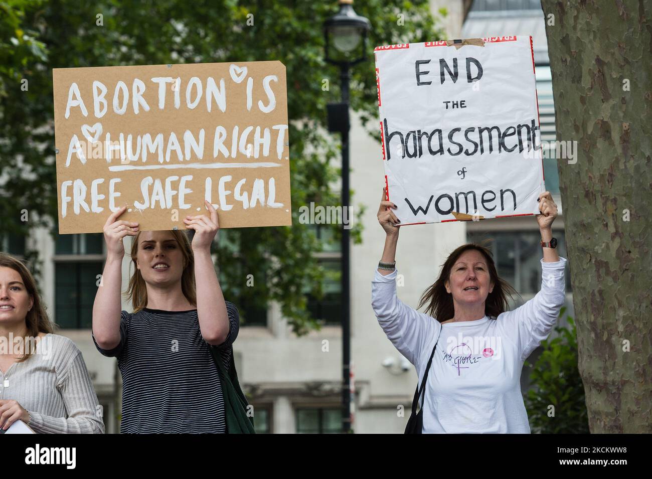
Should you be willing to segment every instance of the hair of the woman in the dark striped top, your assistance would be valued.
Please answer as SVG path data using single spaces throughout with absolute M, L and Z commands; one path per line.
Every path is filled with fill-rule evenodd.
M 126 297 L 128 300 L 131 300 L 132 307 L 134 308 L 134 313 L 139 312 L 143 308 L 147 308 L 147 286 L 145 285 L 145 280 L 143 280 L 140 270 L 136 266 L 136 255 L 138 255 L 138 238 L 140 237 L 140 231 L 136 233 L 131 243 L 131 261 L 134 263 L 136 270 L 134 274 L 129 278 L 129 285 L 126 290 Z M 195 289 L 195 258 L 192 254 L 192 247 L 190 246 L 190 240 L 188 235 L 183 231 L 177 229 L 171 229 L 173 237 L 179 243 L 179 248 L 183 253 L 183 273 L 181 274 L 181 292 L 190 302 L 190 304 L 197 304 L 197 291 Z

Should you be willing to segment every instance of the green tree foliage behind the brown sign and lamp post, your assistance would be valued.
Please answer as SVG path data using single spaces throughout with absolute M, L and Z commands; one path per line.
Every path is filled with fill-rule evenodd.
M 370 0 L 355 8 L 373 29 L 368 59 L 352 71 L 351 109 L 364 123 L 373 120 L 369 131 L 377 138 L 374 46 L 440 35 L 426 0 Z M 224 240 L 216 253 L 224 295 L 243 313 L 244 305 L 274 300 L 297 334 L 318 327 L 306 310 L 304 290 L 307 285 L 316 297 L 323 294 L 323 270 L 313 257 L 323 242 L 298 218 L 299 207 L 310 201 L 340 204 L 333 190 L 340 138 L 325 133 L 326 104 L 340 98 L 339 71 L 323 60 L 321 27 L 335 12 L 334 2 L 291 0 L 0 3 L 0 235 L 27 235 L 38 221 L 57 218 L 52 68 L 279 60 L 288 78 L 293 225 L 220 231 Z M 400 13 L 404 25 L 397 24 Z M 29 81 L 27 91 L 20 89 L 22 78 Z M 355 197 L 351 204 L 357 206 Z M 26 224 L 22 209 L 30 214 Z M 354 224 L 351 237 L 359 242 L 360 225 Z M 341 226 L 329 227 L 337 240 Z M 248 274 L 256 278 L 254 287 L 244 287 Z

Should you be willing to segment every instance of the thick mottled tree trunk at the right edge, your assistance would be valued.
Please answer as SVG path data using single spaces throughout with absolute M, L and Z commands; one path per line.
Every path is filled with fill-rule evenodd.
M 589 428 L 650 433 L 651 6 L 541 4 L 557 141 L 577 141 L 557 168 Z

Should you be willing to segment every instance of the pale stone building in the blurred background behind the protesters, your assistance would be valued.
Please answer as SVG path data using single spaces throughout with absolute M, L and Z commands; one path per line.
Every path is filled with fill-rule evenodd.
M 555 139 L 552 79 L 548 63 L 545 19 L 537 0 L 432 0 L 432 13 L 447 9 L 443 26 L 448 38 L 493 35 L 532 35 L 542 139 Z M 470 7 L 470 8 L 469 8 Z M 433 38 L 436 40 L 437 38 Z M 370 72 L 372 74 L 372 72 Z M 402 433 L 409 416 L 417 377 L 378 326 L 371 308 L 371 280 L 383 249 L 383 232 L 376 219 L 378 193 L 383 185 L 379 141 L 351 117 L 351 188 L 353 204 L 366 205 L 363 242 L 351 249 L 351 351 L 356 433 Z M 546 188 L 561 206 L 556 160 L 544 160 Z M 299 205 L 295 205 L 296 208 Z M 563 212 L 554 225 L 559 254 L 566 257 Z M 524 300 L 541 285 L 539 230 L 532 217 L 482 222 L 405 227 L 396 255 L 399 297 L 416 306 L 422 291 L 434 282 L 447 255 L 467 241 L 492 239 L 499 275 Z M 46 229 L 30 238 L 8 237 L 0 250 L 21 255 L 25 246 L 40 252 L 40 284 L 53 320 L 80 347 L 95 389 L 104 406 L 107 433 L 119 431 L 121 381 L 117 362 L 100 355 L 91 340 L 91 314 L 96 284 L 105 258 L 101 234 L 57 235 Z M 128 245 L 127 245 L 128 249 Z M 340 329 L 340 248 L 333 243 L 318 253 L 332 274 L 323 300 L 310 298 L 312 312 L 325 321 L 319 331 L 297 338 L 276 304 L 249 312 L 235 341 L 241 384 L 254 405 L 259 433 L 337 433 L 341 428 L 342 334 Z M 128 257 L 123 263 L 123 285 L 129 278 Z M 567 270 L 567 278 L 569 278 Z M 240 308 L 246 305 L 238 305 Z M 516 306 L 516 305 L 515 305 Z M 572 315 L 572 293 L 567 280 L 567 307 Z M 130 306 L 123 302 L 123 309 Z M 554 333 L 553 333 L 554 335 Z M 539 355 L 530 357 L 534 362 Z M 524 368 L 522 390 L 528 388 Z M 405 414 L 401 410 L 405 409 Z

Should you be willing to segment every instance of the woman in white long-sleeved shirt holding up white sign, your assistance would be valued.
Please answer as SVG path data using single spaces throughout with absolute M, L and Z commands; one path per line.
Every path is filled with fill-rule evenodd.
M 507 311 L 514 289 L 498 277 L 489 250 L 464 244 L 446 259 L 424 291 L 421 313 L 396 296 L 396 205 L 385 201 L 378 221 L 385 250 L 372 282 L 372 307 L 396 349 L 417 368 L 419 383 L 406 433 L 529 433 L 520 389 L 524 360 L 548 337 L 563 305 L 566 259 L 552 222 L 557 205 L 539 196 L 542 285 L 531 300 Z M 416 413 L 417 402 L 421 411 Z

